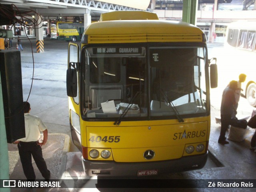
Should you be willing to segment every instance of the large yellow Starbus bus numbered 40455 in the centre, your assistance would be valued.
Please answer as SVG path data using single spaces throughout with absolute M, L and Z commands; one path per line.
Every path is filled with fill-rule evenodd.
M 86 175 L 204 166 L 217 68 L 199 28 L 152 12 L 109 12 L 68 47 L 70 128 Z

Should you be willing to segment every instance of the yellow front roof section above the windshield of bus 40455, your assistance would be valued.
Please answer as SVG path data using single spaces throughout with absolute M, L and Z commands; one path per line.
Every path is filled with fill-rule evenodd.
M 203 42 L 200 28 L 167 20 L 110 20 L 90 24 L 88 43 Z

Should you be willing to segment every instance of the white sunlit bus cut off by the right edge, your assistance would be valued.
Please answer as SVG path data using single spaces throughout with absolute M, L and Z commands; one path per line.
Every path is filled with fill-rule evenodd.
M 233 78 L 238 80 L 241 73 L 246 74 L 246 81 L 242 83 L 242 94 L 248 103 L 256 107 L 256 22 L 239 21 L 230 23 L 227 27 L 226 46 L 228 63 L 231 64 Z

